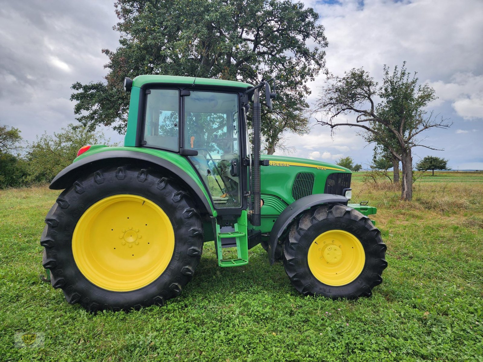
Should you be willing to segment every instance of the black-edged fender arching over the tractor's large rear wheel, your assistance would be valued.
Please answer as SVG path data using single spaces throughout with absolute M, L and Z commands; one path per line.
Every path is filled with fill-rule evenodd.
M 95 172 L 102 167 L 121 166 L 126 163 L 131 163 L 133 165 L 151 164 L 155 168 L 156 166 L 166 168 L 174 177 L 181 179 L 180 182 L 184 182 L 188 188 L 193 190 L 193 194 L 198 197 L 198 201 L 204 207 L 205 211 L 213 216 L 213 206 L 211 205 L 206 190 L 203 190 L 199 186 L 199 183 L 197 183 L 183 168 L 178 167 L 165 158 L 150 153 L 118 149 L 102 151 L 103 152 L 94 153 L 92 155 L 86 155 L 82 159 L 75 161 L 64 168 L 57 174 L 54 180 L 52 180 L 49 188 L 53 190 L 66 189 L 71 187 L 80 176 Z

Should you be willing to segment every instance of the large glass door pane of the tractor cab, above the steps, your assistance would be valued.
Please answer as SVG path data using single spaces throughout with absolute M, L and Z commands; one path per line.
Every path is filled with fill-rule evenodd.
M 216 208 L 239 208 L 240 134 L 238 95 L 191 91 L 185 97 L 185 148 Z

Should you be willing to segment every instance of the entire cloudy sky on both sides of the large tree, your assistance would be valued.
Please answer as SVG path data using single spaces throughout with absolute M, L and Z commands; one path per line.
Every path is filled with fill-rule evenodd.
M 439 97 L 430 104 L 454 124 L 427 132 L 426 144 L 444 151 L 414 149 L 450 160 L 459 169 L 483 169 L 483 1 L 482 0 L 304 0 L 321 16 L 329 41 L 327 67 L 334 74 L 363 66 L 376 79 L 383 65 L 407 61 L 421 82 Z M 0 0 L 0 124 L 20 128 L 26 140 L 75 122 L 71 84 L 102 80 L 118 34 L 111 0 Z M 324 77 L 310 86 L 316 99 Z M 122 140 L 112 130 L 113 140 Z M 372 157 L 349 127 L 331 137 L 314 125 L 290 136 L 294 155 L 333 162 L 351 156 L 366 165 Z

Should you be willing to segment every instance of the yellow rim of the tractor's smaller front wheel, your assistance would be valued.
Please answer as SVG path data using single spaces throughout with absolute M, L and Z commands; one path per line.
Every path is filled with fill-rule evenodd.
M 313 240 L 307 259 L 315 278 L 327 285 L 341 286 L 359 276 L 366 254 L 359 239 L 351 233 L 329 230 Z

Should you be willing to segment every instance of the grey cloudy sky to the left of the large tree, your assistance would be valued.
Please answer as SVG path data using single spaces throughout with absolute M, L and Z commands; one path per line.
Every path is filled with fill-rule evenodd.
M 52 20 L 54 19 L 54 20 Z M 0 11 L 0 121 L 28 141 L 75 123 L 71 84 L 102 81 L 119 21 L 113 3 L 3 1 Z M 6 81 L 14 82 L 6 85 Z M 107 133 L 117 140 L 112 130 Z

